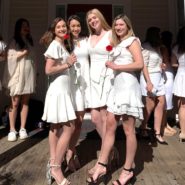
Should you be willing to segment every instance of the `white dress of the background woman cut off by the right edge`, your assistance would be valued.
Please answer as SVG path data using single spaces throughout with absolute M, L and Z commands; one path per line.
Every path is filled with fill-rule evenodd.
M 174 79 L 173 94 L 179 97 L 185 97 L 185 53 L 178 54 L 177 47 L 173 50 L 178 60 L 178 70 Z

